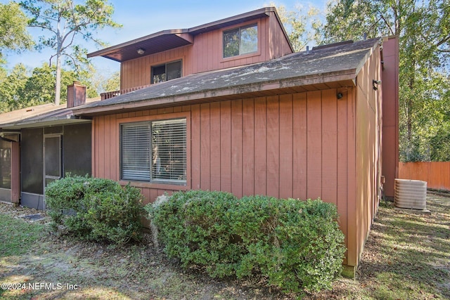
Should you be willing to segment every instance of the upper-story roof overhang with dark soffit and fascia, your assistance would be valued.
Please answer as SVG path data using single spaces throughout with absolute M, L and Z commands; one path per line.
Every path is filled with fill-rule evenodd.
M 116 46 L 110 46 L 99 51 L 88 53 L 87 57 L 92 58 L 95 56 L 103 56 L 104 58 L 110 58 L 111 60 L 122 63 L 125 60 L 131 60 L 141 57 L 142 55 L 137 52 L 138 49 L 143 49 L 144 54 L 149 55 L 173 48 L 178 48 L 181 46 L 186 46 L 189 44 L 193 44 L 193 37 L 195 37 L 195 35 L 210 32 L 212 30 L 217 30 L 231 25 L 236 25 L 250 20 L 266 18 L 270 15 L 270 13 L 274 13 L 279 25 L 283 29 L 286 39 L 289 41 L 288 34 L 284 30 L 278 13 L 276 13 L 276 8 L 266 7 L 257 9 L 256 11 L 234 15 L 230 18 L 217 20 L 188 29 L 162 30 L 154 34 L 147 35 L 146 37 L 140 37 L 139 39 L 133 39 Z M 290 48 L 293 51 L 292 45 L 290 45 Z

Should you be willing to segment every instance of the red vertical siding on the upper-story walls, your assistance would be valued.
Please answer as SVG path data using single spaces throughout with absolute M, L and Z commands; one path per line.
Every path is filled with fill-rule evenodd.
M 273 12 L 271 12 L 273 14 Z M 236 27 L 222 28 L 198 34 L 190 46 L 155 53 L 134 60 L 127 60 L 121 64 L 120 89 L 131 89 L 136 86 L 150 84 L 151 67 L 175 60 L 182 60 L 182 76 L 225 69 L 240 65 L 259 63 L 291 53 L 288 41 L 285 39 L 281 27 L 273 15 L 270 18 L 260 18 L 244 22 L 239 26 L 257 23 L 258 25 L 258 51 L 244 56 L 223 58 L 222 32 Z M 269 39 L 271 42 L 267 41 Z

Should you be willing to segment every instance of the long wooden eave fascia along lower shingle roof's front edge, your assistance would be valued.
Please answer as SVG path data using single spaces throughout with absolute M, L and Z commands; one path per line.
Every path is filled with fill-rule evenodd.
M 78 108 L 76 115 L 94 117 L 96 115 L 111 115 L 120 112 L 133 112 L 138 110 L 192 105 L 199 103 L 217 102 L 240 98 L 258 96 L 281 95 L 287 93 L 300 93 L 304 91 L 317 91 L 323 89 L 349 87 L 356 85 L 356 70 L 314 74 L 304 77 L 266 81 L 242 86 L 225 87 L 221 89 L 203 90 L 194 93 L 183 93 L 174 96 L 136 100 L 113 105 Z

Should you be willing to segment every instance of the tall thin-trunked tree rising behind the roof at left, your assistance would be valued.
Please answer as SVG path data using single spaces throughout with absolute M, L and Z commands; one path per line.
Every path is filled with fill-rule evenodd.
M 120 27 L 113 21 L 113 6 L 108 0 L 86 0 L 84 4 L 75 4 L 72 0 L 25 0 L 20 5 L 30 15 L 30 27 L 41 28 L 48 35 L 40 37 L 39 46 L 52 48 L 56 58 L 55 104 L 60 102 L 61 58 L 66 63 L 79 68 L 87 63 L 86 49 L 81 41 L 90 41 L 103 45 L 103 41 L 94 37 L 94 33 L 104 27 Z

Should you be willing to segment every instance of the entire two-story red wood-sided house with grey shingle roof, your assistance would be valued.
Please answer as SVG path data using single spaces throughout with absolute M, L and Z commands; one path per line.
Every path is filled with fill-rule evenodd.
M 72 108 L 91 122 L 93 176 L 147 202 L 191 189 L 321 197 L 338 207 L 354 272 L 396 176 L 396 38 L 293 53 L 276 9 L 262 8 L 93 56 L 121 66 L 120 91 Z

